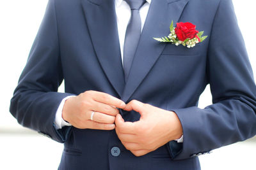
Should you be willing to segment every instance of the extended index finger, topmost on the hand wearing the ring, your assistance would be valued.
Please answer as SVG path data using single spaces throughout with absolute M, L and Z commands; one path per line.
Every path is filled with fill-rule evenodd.
M 125 103 L 124 101 L 113 97 L 109 94 L 106 94 L 104 92 L 96 92 L 94 91 L 93 93 L 93 100 L 98 101 L 100 103 L 105 103 L 111 106 L 115 106 L 116 108 L 125 108 Z

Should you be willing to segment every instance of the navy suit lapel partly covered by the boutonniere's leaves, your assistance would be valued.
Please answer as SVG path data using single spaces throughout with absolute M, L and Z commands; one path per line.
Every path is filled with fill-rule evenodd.
M 176 24 L 189 0 L 152 0 L 147 19 L 141 32 L 131 71 L 125 84 L 122 100 L 127 102 L 141 81 L 147 76 L 161 55 L 166 44 L 159 43 L 154 37 L 168 36 L 170 24 Z

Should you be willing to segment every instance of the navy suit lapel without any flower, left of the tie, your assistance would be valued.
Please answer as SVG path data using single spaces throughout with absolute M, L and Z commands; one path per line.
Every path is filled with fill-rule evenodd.
M 125 86 L 114 0 L 81 0 L 100 65 L 119 96 Z

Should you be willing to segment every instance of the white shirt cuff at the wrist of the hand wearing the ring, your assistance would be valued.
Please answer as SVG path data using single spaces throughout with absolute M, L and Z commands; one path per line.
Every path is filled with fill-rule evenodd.
M 69 99 L 70 97 L 74 97 L 74 96 L 67 96 L 64 99 L 62 99 L 62 101 L 58 107 L 58 110 L 56 111 L 55 120 L 54 120 L 56 129 L 61 129 L 64 126 L 71 126 L 71 124 L 69 124 L 62 118 L 62 110 L 63 110 L 64 104 L 65 104 L 65 101 L 67 101 L 67 99 Z

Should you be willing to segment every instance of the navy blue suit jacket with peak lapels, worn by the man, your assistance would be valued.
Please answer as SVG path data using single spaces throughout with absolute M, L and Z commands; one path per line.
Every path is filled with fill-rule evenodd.
M 168 35 L 172 20 L 191 22 L 208 38 L 193 48 L 154 40 Z M 200 109 L 207 84 L 213 104 Z M 135 157 L 115 131 L 56 131 L 61 100 L 86 90 L 175 111 L 184 143 L 170 141 Z M 200 169 L 198 153 L 256 133 L 256 87 L 232 1 L 152 0 L 125 83 L 114 0 L 49 0 L 10 111 L 25 127 L 65 143 L 60 169 Z M 127 121 L 140 118 L 121 113 Z M 121 150 L 118 157 L 111 155 L 113 146 Z

